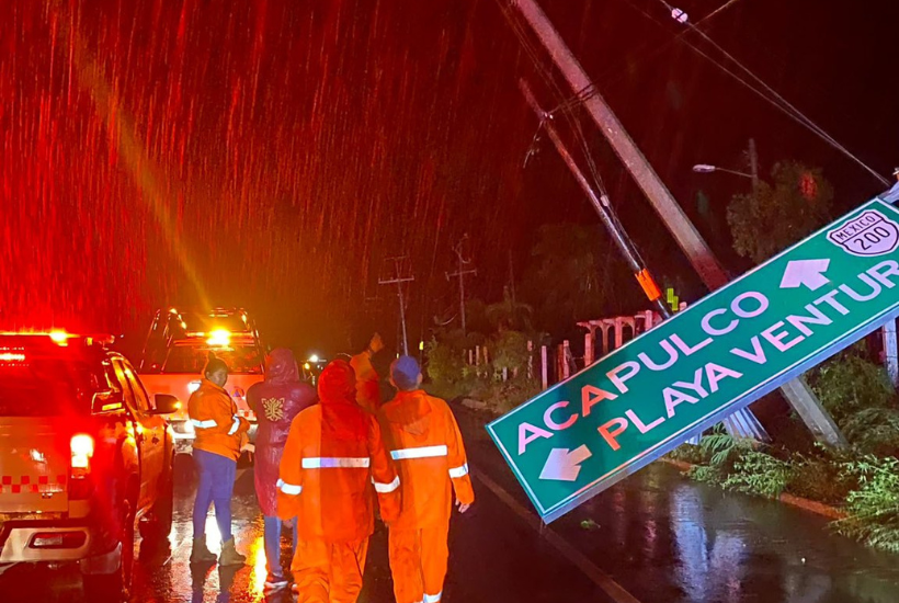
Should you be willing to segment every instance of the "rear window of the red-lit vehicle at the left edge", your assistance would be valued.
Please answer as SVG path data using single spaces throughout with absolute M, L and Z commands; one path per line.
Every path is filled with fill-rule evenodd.
M 87 362 L 0 363 L 0 417 L 88 414 L 93 395 L 109 389 L 104 380 Z

